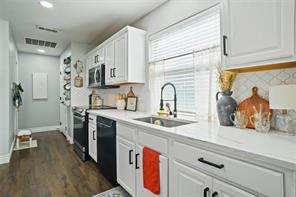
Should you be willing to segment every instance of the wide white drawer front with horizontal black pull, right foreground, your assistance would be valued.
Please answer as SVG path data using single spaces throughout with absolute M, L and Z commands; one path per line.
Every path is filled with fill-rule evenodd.
M 175 159 L 216 174 L 268 197 L 284 197 L 284 176 L 282 173 L 179 142 L 175 142 L 173 147 Z

